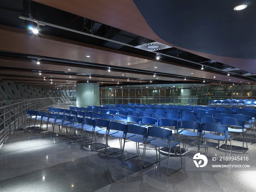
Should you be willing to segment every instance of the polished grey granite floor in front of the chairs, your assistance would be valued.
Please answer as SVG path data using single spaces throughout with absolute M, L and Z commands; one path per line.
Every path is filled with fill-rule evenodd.
M 188 155 L 189 150 L 196 150 L 197 146 L 194 139 L 188 138 L 189 150 L 182 151 L 182 169 L 168 177 L 165 150 L 161 150 L 160 162 L 142 168 L 143 146 L 140 146 L 139 157 L 122 162 L 120 152 L 106 157 L 103 150 L 91 151 L 89 146 L 80 147 L 78 142 L 69 143 L 60 140 L 59 136 L 45 135 L 26 126 L 23 123 L 0 148 L 0 192 L 256 191 L 256 144 L 248 143 L 249 150 L 243 154 L 240 138 L 232 141 L 233 156 L 248 156 L 248 161 L 240 162 L 250 165 L 250 168 L 197 168 Z M 105 137 L 99 137 L 98 143 L 105 143 Z M 118 146 L 118 140 L 111 139 L 109 146 Z M 203 153 L 204 144 L 201 146 Z M 225 155 L 225 149 L 218 150 L 217 143 L 208 141 L 208 146 L 208 159 L 212 154 Z M 127 142 L 125 151 L 127 156 L 134 154 L 135 144 Z M 155 150 L 148 146 L 146 162 L 153 161 L 154 155 Z M 172 155 L 170 170 L 178 166 L 180 157 Z M 193 169 L 190 170 L 189 166 Z

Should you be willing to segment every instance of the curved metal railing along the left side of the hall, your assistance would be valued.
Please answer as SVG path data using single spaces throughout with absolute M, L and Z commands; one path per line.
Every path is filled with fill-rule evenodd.
M 42 110 L 54 104 L 68 103 L 70 102 L 69 97 L 48 97 L 48 98 L 37 98 L 37 99 L 26 99 L 20 102 L 12 103 L 0 107 L 0 147 L 6 143 L 6 139 L 11 136 L 13 131 L 19 127 L 23 120 L 26 121 L 27 112 L 29 110 Z

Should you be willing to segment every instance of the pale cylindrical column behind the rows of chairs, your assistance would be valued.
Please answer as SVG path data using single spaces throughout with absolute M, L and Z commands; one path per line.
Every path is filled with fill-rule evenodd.
M 99 84 L 78 82 L 76 84 L 76 106 L 86 108 L 87 105 L 99 106 Z

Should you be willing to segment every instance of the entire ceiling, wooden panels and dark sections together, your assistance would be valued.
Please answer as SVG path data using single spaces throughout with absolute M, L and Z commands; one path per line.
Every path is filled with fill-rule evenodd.
M 87 80 L 100 86 L 255 83 L 255 3 L 233 10 L 242 3 L 1 1 L 0 78 L 53 89 Z M 37 23 L 41 30 L 33 34 L 29 27 Z M 171 47 L 155 52 L 135 48 L 153 41 Z

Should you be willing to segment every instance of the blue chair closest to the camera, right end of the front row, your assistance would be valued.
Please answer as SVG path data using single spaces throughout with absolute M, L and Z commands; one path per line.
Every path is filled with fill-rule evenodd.
M 158 127 L 148 127 L 148 134 L 147 134 L 147 138 L 148 136 L 152 136 L 152 137 L 158 137 L 158 139 L 155 139 L 153 141 L 151 141 L 149 144 L 158 147 L 158 153 L 159 153 L 159 159 L 158 159 L 158 155 L 157 155 L 157 160 L 153 163 L 150 163 L 149 165 L 144 165 L 144 161 L 145 161 L 145 157 L 146 157 L 146 144 L 148 143 L 147 140 L 144 143 L 144 151 L 143 151 L 143 158 L 142 158 L 142 167 L 148 167 L 150 165 L 153 165 L 154 163 L 157 163 L 158 161 L 160 161 L 160 147 L 167 147 L 169 149 L 169 154 L 168 154 L 168 162 L 167 162 L 167 176 L 177 172 L 178 170 L 180 170 L 182 168 L 182 157 L 181 157 L 181 152 L 180 152 L 180 160 L 181 160 L 181 167 L 178 168 L 177 170 L 175 170 L 174 172 L 168 174 L 168 169 L 169 169 L 169 161 L 170 161 L 170 151 L 172 148 L 174 147 L 179 147 L 180 148 L 180 142 L 172 142 L 172 130 L 169 129 L 161 129 Z M 162 138 L 166 138 L 162 139 Z M 181 149 L 180 149 L 181 151 Z

